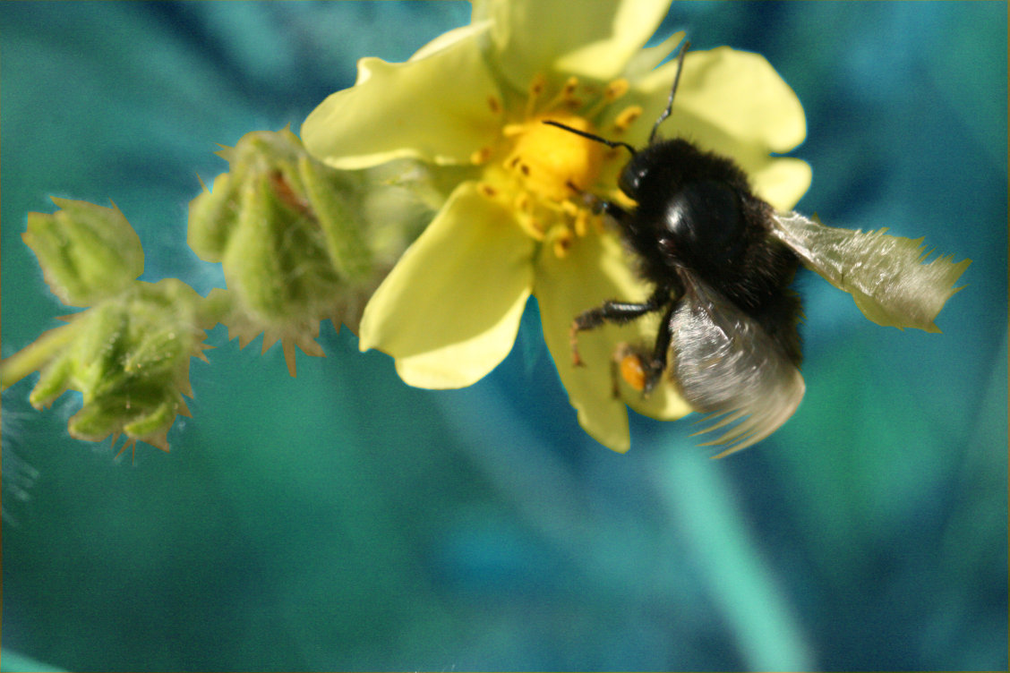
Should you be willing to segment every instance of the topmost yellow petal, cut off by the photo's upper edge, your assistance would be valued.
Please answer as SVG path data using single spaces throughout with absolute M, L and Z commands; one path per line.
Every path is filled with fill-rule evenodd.
M 474 3 L 474 18 L 492 20 L 489 55 L 522 91 L 552 71 L 617 77 L 669 9 L 670 0 L 486 0 Z

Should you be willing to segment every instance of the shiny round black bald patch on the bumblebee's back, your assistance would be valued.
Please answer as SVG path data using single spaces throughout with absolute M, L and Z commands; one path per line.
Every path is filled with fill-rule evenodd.
M 736 191 L 725 183 L 688 183 L 667 202 L 664 228 L 695 259 L 728 263 L 743 246 L 743 216 Z

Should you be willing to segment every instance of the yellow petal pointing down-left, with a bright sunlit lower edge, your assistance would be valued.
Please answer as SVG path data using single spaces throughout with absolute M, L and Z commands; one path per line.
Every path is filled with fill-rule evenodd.
M 463 183 L 369 301 L 362 350 L 392 355 L 418 387 L 476 382 L 512 348 L 532 254 L 509 212 Z

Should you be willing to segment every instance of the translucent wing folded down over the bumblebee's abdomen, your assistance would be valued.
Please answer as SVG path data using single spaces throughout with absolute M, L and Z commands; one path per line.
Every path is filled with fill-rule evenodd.
M 767 332 L 736 306 L 688 273 L 672 318 L 673 374 L 694 409 L 719 418 L 700 432 L 731 425 L 704 445 L 728 444 L 715 456 L 765 439 L 803 399 L 803 376 Z M 792 325 L 788 329 L 794 329 Z

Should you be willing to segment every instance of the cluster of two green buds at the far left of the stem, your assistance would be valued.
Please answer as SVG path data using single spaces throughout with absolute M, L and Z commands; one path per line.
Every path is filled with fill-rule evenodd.
M 22 351 L 31 360 L 34 349 L 40 371 L 29 401 L 42 408 L 77 390 L 83 406 L 70 419 L 71 435 L 101 441 L 125 434 L 123 448 L 142 440 L 168 451 L 176 416 L 188 415 L 190 357 L 203 357 L 206 348 L 209 324 L 199 324 L 211 322 L 201 318 L 205 300 L 175 278 L 136 279 L 143 251 L 117 208 L 54 201 L 56 213 L 28 215 L 24 241 L 54 294 L 90 308 Z

